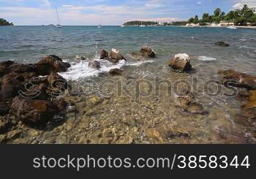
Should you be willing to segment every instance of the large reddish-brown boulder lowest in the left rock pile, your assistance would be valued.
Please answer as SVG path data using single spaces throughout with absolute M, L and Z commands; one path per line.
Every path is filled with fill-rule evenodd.
M 50 121 L 59 109 L 53 102 L 16 96 L 12 100 L 11 113 L 25 123 L 40 124 Z

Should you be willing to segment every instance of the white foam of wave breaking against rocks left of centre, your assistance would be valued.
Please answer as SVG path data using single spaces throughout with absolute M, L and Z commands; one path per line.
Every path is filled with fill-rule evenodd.
M 140 66 L 141 64 L 151 63 L 153 61 L 138 61 L 138 62 L 127 62 L 125 60 L 119 61 L 117 64 L 113 64 L 110 61 L 101 60 L 99 58 L 94 59 L 99 61 L 101 68 L 92 69 L 89 67 L 89 61 L 79 61 L 78 63 L 70 63 L 71 67 L 67 72 L 59 73 L 66 80 L 79 80 L 86 77 L 94 77 L 102 72 L 109 72 L 110 69 L 121 69 L 122 66 Z

